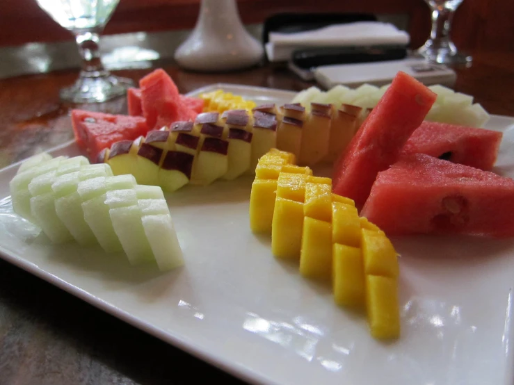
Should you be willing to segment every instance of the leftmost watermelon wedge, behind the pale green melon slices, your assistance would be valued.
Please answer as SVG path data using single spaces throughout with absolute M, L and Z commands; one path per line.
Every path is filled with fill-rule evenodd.
M 72 110 L 72 126 L 79 148 L 96 163 L 102 149 L 120 140 L 134 140 L 145 136 L 148 126 L 144 117 L 94 113 Z

